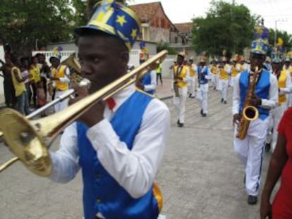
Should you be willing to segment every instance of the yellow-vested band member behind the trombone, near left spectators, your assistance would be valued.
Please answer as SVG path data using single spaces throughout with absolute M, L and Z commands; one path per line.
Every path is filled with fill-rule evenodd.
M 50 80 L 55 82 L 56 93 L 55 99 L 64 94 L 69 89 L 69 75 L 70 70 L 66 65 L 61 65 L 61 55 L 55 54 L 49 58 L 51 63 L 51 77 Z M 68 99 L 60 101 L 58 104 L 54 105 L 55 112 L 59 112 L 68 106 Z

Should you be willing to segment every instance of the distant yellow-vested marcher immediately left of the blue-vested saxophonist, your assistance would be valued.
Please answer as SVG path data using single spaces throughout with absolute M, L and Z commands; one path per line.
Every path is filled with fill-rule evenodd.
M 229 85 L 229 75 L 231 66 L 227 63 L 227 58 L 223 57 L 219 65 L 219 89 L 221 90 L 221 103 L 227 104 L 227 93 Z

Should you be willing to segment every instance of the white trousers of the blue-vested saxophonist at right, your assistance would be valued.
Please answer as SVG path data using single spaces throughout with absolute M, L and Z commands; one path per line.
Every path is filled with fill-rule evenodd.
M 245 167 L 245 189 L 248 195 L 257 196 L 262 171 L 262 152 L 267 135 L 269 119 L 259 118 L 250 123 L 245 139 L 236 138 L 237 125 L 234 132 L 234 151 Z

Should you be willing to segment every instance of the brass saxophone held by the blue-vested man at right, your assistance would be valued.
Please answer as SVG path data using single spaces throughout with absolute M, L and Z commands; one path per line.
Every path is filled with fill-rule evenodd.
M 250 122 L 256 120 L 259 117 L 259 111 L 255 106 L 250 105 L 250 100 L 255 96 L 255 85 L 257 84 L 257 79 L 259 78 L 260 73 L 258 68 L 255 68 L 255 73 L 253 73 L 253 79 L 250 82 L 248 87 L 248 93 L 245 96 L 245 101 L 243 105 L 243 111 L 241 115 L 241 120 L 238 123 L 236 137 L 238 139 L 245 139 L 246 134 L 248 134 L 248 127 Z

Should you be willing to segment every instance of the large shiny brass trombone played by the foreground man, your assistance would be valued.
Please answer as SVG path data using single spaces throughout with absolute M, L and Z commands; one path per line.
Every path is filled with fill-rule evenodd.
M 0 111 L 0 130 L 3 132 L 6 144 L 17 156 L 1 165 L 0 172 L 20 160 L 32 173 L 39 176 L 50 175 L 51 158 L 47 146 L 50 146 L 56 136 L 95 103 L 108 99 L 121 89 L 135 83 L 135 75 L 145 72 L 144 69 L 152 63 L 164 60 L 166 55 L 166 50 L 161 51 L 111 84 L 48 117 L 28 120 L 11 108 Z

